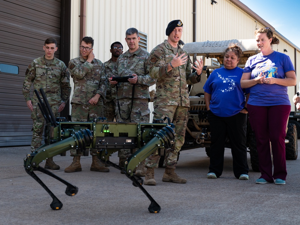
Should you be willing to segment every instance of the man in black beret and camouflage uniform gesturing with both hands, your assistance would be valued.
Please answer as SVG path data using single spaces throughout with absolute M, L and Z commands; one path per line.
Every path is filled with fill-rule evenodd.
M 163 181 L 186 183 L 187 180 L 179 177 L 175 172 L 177 153 L 184 143 L 185 127 L 187 123 L 187 109 L 190 106 L 187 84 L 200 81 L 203 63 L 195 62 L 195 73 L 191 73 L 190 56 L 178 44 L 182 36 L 181 20 L 173 20 L 166 29 L 168 40 L 156 46 L 149 56 L 150 76 L 156 81 L 154 95 L 153 119 L 171 119 L 175 125 L 175 143 L 166 150 L 164 166 L 166 167 Z M 156 154 L 146 159 L 146 178 L 144 184 L 156 185 L 154 168 L 158 167 L 160 156 Z

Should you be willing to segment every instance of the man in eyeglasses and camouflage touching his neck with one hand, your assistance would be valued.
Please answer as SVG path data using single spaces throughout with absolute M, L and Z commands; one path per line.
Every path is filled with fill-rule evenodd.
M 72 96 L 73 122 L 86 122 L 90 117 L 103 117 L 103 101 L 106 95 L 107 76 L 103 63 L 95 58 L 93 52 L 94 40 L 91 37 L 82 38 L 79 46 L 80 56 L 69 62 L 70 75 L 74 82 Z M 81 171 L 80 156 L 76 149 L 70 150 L 73 163 L 64 172 Z M 109 172 L 98 159 L 96 149 L 90 149 L 92 156 L 91 171 Z

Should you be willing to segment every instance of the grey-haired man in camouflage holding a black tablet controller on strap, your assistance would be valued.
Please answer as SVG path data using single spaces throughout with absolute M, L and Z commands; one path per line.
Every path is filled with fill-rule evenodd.
M 112 85 L 117 86 L 117 122 L 139 122 L 149 123 L 149 86 L 155 81 L 149 76 L 147 59 L 149 52 L 139 47 L 139 33 L 135 28 L 126 31 L 125 41 L 129 50 L 119 56 L 113 69 L 113 76 L 133 76 L 128 82 L 112 81 Z M 129 156 L 129 149 L 122 149 L 118 152 L 120 158 L 119 165 L 123 166 L 124 161 Z M 146 169 L 144 162 L 137 168 L 137 176 L 145 176 Z

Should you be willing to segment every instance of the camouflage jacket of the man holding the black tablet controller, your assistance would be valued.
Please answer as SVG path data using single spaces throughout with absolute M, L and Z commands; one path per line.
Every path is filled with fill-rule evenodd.
M 135 52 L 126 51 L 117 59 L 113 69 L 113 76 L 138 76 L 135 84 L 134 98 L 148 98 L 150 101 L 149 86 L 155 84 L 155 80 L 149 76 L 149 65 L 147 63 L 149 52 L 141 47 Z M 118 83 L 118 98 L 132 97 L 132 84 L 130 82 Z

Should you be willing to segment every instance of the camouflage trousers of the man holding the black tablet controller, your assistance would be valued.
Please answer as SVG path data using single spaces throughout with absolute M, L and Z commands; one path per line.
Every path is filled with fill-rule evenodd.
M 123 120 L 119 114 L 118 102 L 116 105 L 116 121 L 117 122 L 137 122 L 137 123 L 149 123 L 150 119 L 150 110 L 149 110 L 149 101 L 148 98 L 134 98 L 132 111 L 131 109 L 131 98 L 121 98 L 119 99 L 120 112 Z M 137 149 L 134 149 L 136 151 Z M 127 159 L 131 155 L 130 149 L 121 149 L 118 152 L 118 157 Z

